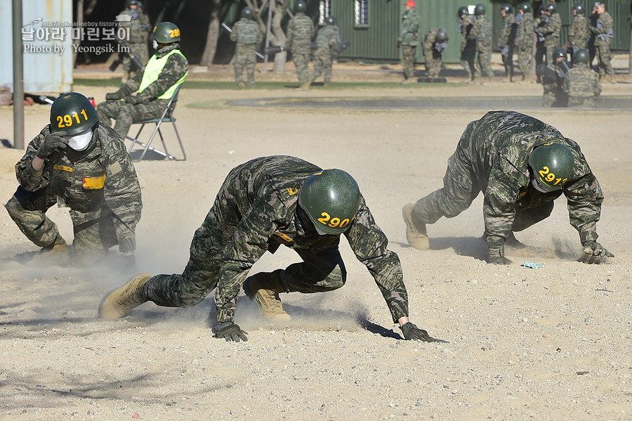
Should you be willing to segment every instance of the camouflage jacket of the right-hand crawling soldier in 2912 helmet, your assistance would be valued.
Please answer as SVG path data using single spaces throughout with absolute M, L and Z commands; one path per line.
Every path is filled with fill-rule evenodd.
M 558 192 L 540 193 L 532 187 L 528 159 L 534 148 L 551 141 L 567 145 L 574 156 L 572 176 Z M 562 193 L 567 198 L 570 224 L 579 238 L 596 240 L 603 193 L 588 167 L 579 145 L 548 124 L 515 111 L 488 112 L 468 124 L 459 141 L 459 153 L 471 164 L 471 171 L 485 199 L 485 237 L 490 250 L 503 245 L 511 233 L 516 207 L 533 207 L 550 202 Z

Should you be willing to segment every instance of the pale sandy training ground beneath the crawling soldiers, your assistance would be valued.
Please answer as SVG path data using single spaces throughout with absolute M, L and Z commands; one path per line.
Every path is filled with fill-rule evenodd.
M 107 92 L 75 89 L 97 101 Z M 290 325 L 268 325 L 240 297 L 236 321 L 248 342 L 211 337 L 212 296 L 190 309 L 148 303 L 124 320 L 98 320 L 100 299 L 126 280 L 116 269 L 117 251 L 93 268 L 20 264 L 15 259 L 37 247 L 3 211 L 0 420 L 632 420 L 630 112 L 527 112 L 581 145 L 606 197 L 600 241 L 616 257 L 600 265 L 576 261 L 579 238 L 561 198 L 549 219 L 518 233 L 529 248 L 508 250 L 515 263 L 493 266 L 485 263 L 480 239 L 480 197 L 458 217 L 429 227 L 426 252 L 407 246 L 401 217 L 404 204 L 440 187 L 461 132 L 487 110 L 223 105 L 247 97 L 540 93 L 532 84 L 501 83 L 183 90 L 176 116 L 189 159 L 136 164 L 144 204 L 139 271 L 183 269 L 192 234 L 232 167 L 263 155 L 296 155 L 355 176 L 402 261 L 412 321 L 449 343 L 401 340 L 373 279 L 344 240 L 345 287 L 284 294 Z M 604 95 L 620 94 L 632 94 L 632 85 L 604 86 Z M 216 106 L 186 107 L 201 101 Z M 27 141 L 48 122 L 49 110 L 27 108 Z M 11 127 L 11 109 L 0 108 L 0 137 L 11 137 Z M 13 164 L 21 155 L 0 149 L 3 203 L 16 187 Z M 48 214 L 70 240 L 67 211 Z M 253 271 L 296 260 L 279 250 Z

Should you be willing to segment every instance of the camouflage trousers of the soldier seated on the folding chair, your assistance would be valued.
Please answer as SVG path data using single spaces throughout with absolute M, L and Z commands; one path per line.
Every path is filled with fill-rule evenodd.
M 112 127 L 112 118 L 116 120 L 114 130 L 125 138 L 129 128 L 135 122 L 158 118 L 164 112 L 168 100 L 157 99 L 147 104 L 131 105 L 124 101 L 105 101 L 97 105 L 99 121 Z

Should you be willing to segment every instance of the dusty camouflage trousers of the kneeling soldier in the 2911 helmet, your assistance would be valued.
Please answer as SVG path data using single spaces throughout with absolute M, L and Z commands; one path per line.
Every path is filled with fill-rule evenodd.
M 4 207 L 29 240 L 38 247 L 46 247 L 52 245 L 60 235 L 57 225 L 46 216 L 46 211 L 56 202 L 57 198 L 51 195 L 48 188 L 29 192 L 18 187 Z M 74 214 L 71 210 L 74 261 L 90 264 L 103 259 L 107 250 L 119 243 L 110 209 L 102 208 L 98 219 L 90 221 L 74 217 Z

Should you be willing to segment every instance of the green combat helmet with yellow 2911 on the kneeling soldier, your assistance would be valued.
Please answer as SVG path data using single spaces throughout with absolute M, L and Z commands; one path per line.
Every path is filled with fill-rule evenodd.
M 51 133 L 65 131 L 65 136 L 74 136 L 91 129 L 98 121 L 94 106 L 79 92 L 64 93 L 51 105 Z

